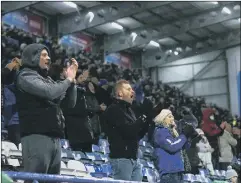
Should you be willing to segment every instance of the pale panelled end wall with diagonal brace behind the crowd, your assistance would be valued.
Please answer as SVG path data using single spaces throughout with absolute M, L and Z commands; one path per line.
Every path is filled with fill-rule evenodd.
M 225 51 L 213 51 L 152 68 L 154 81 L 178 88 L 190 96 L 204 97 L 207 103 L 229 109 L 229 80 Z

